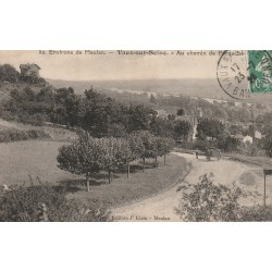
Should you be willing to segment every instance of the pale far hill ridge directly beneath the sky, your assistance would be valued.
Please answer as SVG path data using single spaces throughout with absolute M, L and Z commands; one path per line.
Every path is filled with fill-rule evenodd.
M 48 83 L 57 88 L 72 87 L 78 94 L 94 86 L 95 89 L 106 92 L 128 92 L 145 95 L 173 95 L 189 96 L 198 98 L 212 98 L 227 101 L 234 101 L 219 86 L 214 78 L 184 78 L 184 79 L 145 79 L 145 81 L 58 81 L 47 79 Z M 235 100 L 236 101 L 236 100 Z M 261 94 L 251 96 L 246 102 L 263 103 L 272 106 L 271 94 Z

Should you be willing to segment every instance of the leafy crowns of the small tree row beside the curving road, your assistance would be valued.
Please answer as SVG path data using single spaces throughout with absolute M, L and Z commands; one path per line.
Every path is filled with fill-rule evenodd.
M 85 174 L 88 178 L 100 171 L 112 172 L 122 169 L 136 159 L 157 158 L 169 153 L 174 141 L 154 137 L 149 132 L 140 131 L 127 138 L 102 137 L 92 138 L 88 132 L 82 131 L 78 139 L 60 148 L 57 160 L 59 168 L 75 174 Z

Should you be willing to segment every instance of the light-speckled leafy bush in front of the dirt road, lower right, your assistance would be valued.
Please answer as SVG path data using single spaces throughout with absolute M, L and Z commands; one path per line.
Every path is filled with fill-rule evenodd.
M 187 185 L 177 214 L 185 221 L 237 221 L 240 206 L 238 200 L 248 195 L 235 184 L 217 185 L 213 174 L 205 174 L 200 182 Z

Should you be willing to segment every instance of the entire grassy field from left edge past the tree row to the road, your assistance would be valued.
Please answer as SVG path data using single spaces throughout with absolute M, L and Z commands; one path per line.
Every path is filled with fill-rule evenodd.
M 135 162 L 129 178 L 125 171 L 115 173 L 112 184 L 109 185 L 107 173 L 101 173 L 94 176 L 88 193 L 83 176 L 70 174 L 57 166 L 58 149 L 64 144 L 46 140 L 0 144 L 0 183 L 22 184 L 29 181 L 29 175 L 36 182 L 35 178 L 39 176 L 41 182 L 69 186 L 70 198 L 90 199 L 108 207 L 116 207 L 174 186 L 187 164 L 184 158 L 170 154 L 166 165 L 159 158 L 159 168 L 153 168 L 152 161 L 149 161 L 143 173 L 141 165 Z

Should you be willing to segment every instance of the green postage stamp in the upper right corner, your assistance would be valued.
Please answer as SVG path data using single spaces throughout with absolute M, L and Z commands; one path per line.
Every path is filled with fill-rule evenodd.
M 248 74 L 249 74 L 249 91 L 268 92 L 272 91 L 272 66 L 271 53 L 269 51 L 248 51 Z

